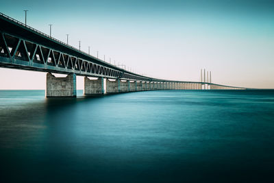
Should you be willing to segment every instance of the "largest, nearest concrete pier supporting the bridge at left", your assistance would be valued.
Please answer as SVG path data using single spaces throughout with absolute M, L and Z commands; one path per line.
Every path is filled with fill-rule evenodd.
M 76 75 L 55 77 L 47 73 L 46 97 L 76 97 Z

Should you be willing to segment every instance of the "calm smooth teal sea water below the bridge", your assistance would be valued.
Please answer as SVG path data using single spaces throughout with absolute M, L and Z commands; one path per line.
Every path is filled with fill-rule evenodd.
M 0 90 L 0 182 L 273 182 L 274 90 Z

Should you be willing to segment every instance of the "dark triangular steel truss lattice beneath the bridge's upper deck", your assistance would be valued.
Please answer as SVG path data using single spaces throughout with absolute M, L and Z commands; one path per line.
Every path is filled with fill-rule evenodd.
M 110 69 L 3 32 L 0 32 L 0 56 L 9 58 L 4 60 L 6 64 L 27 67 L 31 70 L 40 69 L 40 71 L 113 79 L 147 80 L 144 77 Z

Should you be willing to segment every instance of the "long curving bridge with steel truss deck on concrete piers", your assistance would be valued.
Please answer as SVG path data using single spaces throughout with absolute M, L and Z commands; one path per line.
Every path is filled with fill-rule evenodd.
M 76 75 L 84 76 L 84 95 L 141 90 L 246 89 L 213 84 L 206 80 L 201 82 L 162 80 L 127 71 L 2 13 L 0 13 L 0 67 L 47 72 L 46 97 L 76 97 Z M 67 76 L 55 77 L 52 73 Z M 97 80 L 90 80 L 89 77 L 97 77 Z

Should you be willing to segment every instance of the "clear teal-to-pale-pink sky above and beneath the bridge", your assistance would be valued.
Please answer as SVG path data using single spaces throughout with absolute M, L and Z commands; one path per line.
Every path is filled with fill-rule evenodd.
M 0 12 L 99 58 L 169 80 L 274 88 L 274 1 L 3 1 Z M 83 78 L 77 77 L 77 89 Z M 0 89 L 45 89 L 45 73 L 0 69 Z

